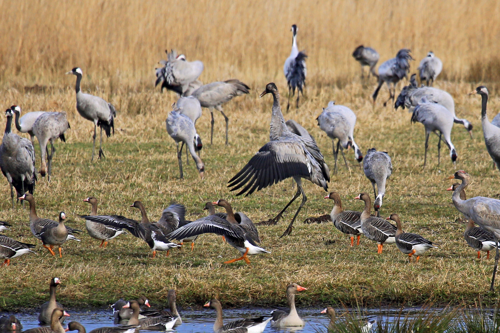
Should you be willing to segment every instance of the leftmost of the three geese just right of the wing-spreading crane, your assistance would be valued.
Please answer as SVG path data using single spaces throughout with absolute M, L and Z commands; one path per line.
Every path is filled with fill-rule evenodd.
M 330 213 L 331 222 L 333 222 L 335 228 L 350 236 L 350 246 L 354 246 L 354 236 L 357 236 L 356 245 L 359 245 L 359 237 L 363 234 L 360 220 L 361 213 L 344 211 L 340 195 L 337 192 L 330 192 L 324 199 L 331 199 L 335 202 Z

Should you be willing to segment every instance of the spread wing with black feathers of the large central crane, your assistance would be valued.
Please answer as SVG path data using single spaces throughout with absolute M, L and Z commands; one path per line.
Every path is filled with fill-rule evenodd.
M 298 136 L 297 136 L 298 137 Z M 234 176 L 227 187 L 245 196 L 289 177 L 312 177 L 312 165 L 304 147 L 296 140 L 269 141 Z

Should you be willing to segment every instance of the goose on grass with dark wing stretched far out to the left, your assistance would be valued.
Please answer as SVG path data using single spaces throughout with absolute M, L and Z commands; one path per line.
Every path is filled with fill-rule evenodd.
M 102 223 L 107 226 L 123 228 L 137 238 L 142 239 L 149 245 L 149 248 L 153 252 L 153 258 L 156 256 L 156 251 L 166 251 L 168 256 L 168 251 L 173 248 L 178 248 L 180 245 L 169 242 L 162 230 L 155 224 L 149 222 L 147 218 L 144 205 L 140 201 L 135 201 L 130 207 L 138 208 L 142 215 L 140 221 L 135 221 L 127 219 L 126 217 L 120 215 L 98 215 L 90 216 L 84 215 L 80 216 L 82 219 Z

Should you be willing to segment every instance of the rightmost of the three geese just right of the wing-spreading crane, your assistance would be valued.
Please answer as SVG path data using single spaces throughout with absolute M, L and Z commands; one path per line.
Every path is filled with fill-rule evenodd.
M 416 262 L 420 259 L 420 256 L 427 250 L 431 248 L 437 248 L 431 241 L 423 238 L 420 235 L 412 233 L 403 233 L 401 229 L 401 220 L 397 214 L 390 214 L 387 220 L 392 220 L 396 223 L 396 246 L 405 255 L 408 255 L 409 261 L 411 257 L 416 255 Z

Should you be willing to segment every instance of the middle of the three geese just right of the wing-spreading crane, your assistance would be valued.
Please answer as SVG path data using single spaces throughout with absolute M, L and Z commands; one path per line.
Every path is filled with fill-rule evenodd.
M 359 193 L 354 199 L 364 201 L 364 209 L 361 213 L 361 230 L 363 235 L 378 243 L 378 254 L 382 253 L 384 244 L 395 243 L 396 227 L 382 218 L 370 216 L 370 196 L 367 193 Z

